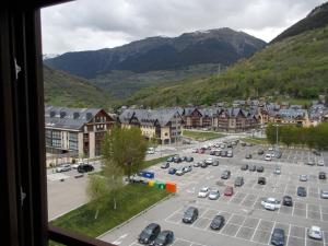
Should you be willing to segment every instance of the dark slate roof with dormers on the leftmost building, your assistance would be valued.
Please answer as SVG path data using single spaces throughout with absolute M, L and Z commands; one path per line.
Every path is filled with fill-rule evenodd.
M 102 108 L 45 107 L 45 124 L 50 128 L 80 130 Z

